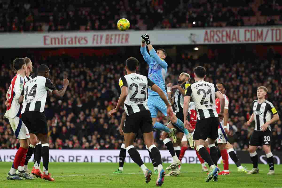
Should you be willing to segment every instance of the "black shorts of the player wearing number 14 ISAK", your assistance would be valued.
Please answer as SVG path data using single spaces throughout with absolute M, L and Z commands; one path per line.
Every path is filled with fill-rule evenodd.
M 44 112 L 27 111 L 21 114 L 21 118 L 25 123 L 25 126 L 27 126 L 29 133 L 48 133 L 48 125 Z

